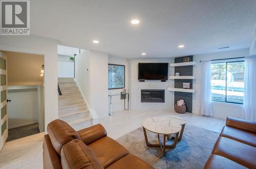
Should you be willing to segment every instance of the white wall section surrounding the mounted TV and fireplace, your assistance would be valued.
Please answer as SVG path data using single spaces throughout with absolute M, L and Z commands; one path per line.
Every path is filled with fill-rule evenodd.
M 173 109 L 174 92 L 167 91 L 168 87 L 174 87 L 174 80 L 161 82 L 160 80 L 148 80 L 145 82 L 138 81 L 138 63 L 174 63 L 174 59 L 131 59 L 129 60 L 129 92 L 131 93 L 131 109 Z M 174 74 L 174 68 L 169 67 L 169 75 Z M 164 89 L 165 103 L 141 103 L 140 94 L 142 89 Z

